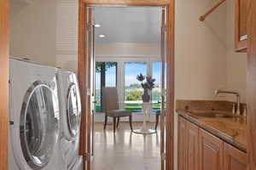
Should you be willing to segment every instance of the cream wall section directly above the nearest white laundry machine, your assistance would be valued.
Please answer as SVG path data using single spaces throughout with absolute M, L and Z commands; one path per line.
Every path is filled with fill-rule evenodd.
M 55 65 L 56 3 L 52 0 L 17 2 L 11 0 L 10 54 Z

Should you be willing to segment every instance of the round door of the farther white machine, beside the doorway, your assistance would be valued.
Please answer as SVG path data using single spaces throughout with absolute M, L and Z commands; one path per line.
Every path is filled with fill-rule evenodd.
M 67 125 L 72 137 L 79 133 L 81 121 L 81 108 L 77 85 L 71 83 L 67 92 Z

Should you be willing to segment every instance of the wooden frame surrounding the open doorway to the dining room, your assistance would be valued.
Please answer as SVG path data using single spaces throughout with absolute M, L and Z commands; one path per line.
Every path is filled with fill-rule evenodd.
M 175 0 L 79 0 L 79 85 L 82 101 L 82 125 L 80 131 L 80 150 L 79 154 L 84 156 L 84 160 L 90 156 L 86 155 L 86 141 L 90 134 L 90 117 L 88 113 L 89 99 L 86 94 L 88 84 L 87 69 L 89 56 L 86 49 L 87 44 L 87 7 L 166 7 L 167 20 L 167 95 L 166 95 L 166 170 L 174 168 L 174 8 Z M 170 73 L 170 74 L 169 74 Z M 86 163 L 84 164 L 86 165 Z M 84 167 L 90 169 L 90 167 Z

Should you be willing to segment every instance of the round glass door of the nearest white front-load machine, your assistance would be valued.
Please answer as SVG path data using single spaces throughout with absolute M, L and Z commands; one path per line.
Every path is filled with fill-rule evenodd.
M 26 92 L 20 114 L 20 144 L 32 169 L 45 167 L 58 139 L 59 108 L 54 91 L 34 82 Z

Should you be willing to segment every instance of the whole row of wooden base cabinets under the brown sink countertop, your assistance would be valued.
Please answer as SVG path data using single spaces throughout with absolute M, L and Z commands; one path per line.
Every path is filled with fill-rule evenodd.
M 247 170 L 247 154 L 178 116 L 178 170 Z

